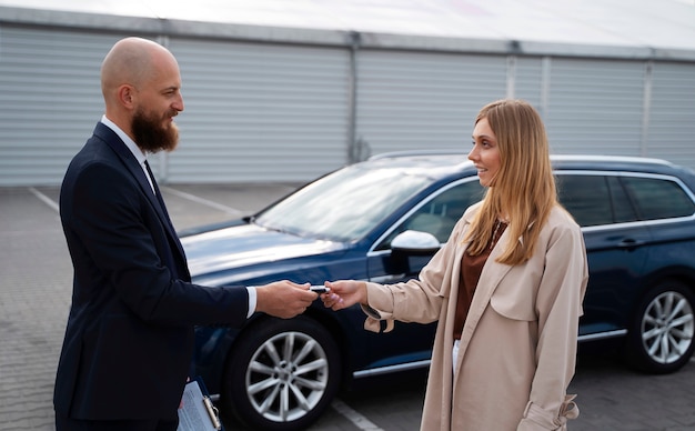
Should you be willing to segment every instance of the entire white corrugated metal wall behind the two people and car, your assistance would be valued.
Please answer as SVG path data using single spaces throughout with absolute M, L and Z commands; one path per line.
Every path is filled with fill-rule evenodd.
M 121 37 L 0 24 L 0 186 L 60 183 L 101 117 L 99 67 Z M 162 182 L 306 181 L 348 163 L 352 58 L 355 138 L 371 153 L 467 151 L 477 110 L 518 97 L 554 152 L 695 168 L 693 62 L 158 40 L 179 60 L 185 103 L 179 149 L 153 163 Z

